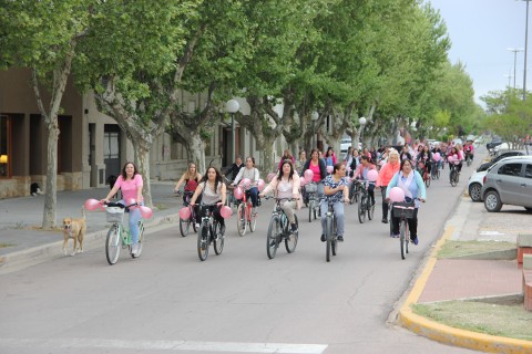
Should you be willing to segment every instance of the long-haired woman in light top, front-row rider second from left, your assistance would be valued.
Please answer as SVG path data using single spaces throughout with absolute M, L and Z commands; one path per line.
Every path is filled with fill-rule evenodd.
M 219 170 L 211 166 L 207 168 L 207 173 L 197 184 L 194 196 L 191 199 L 191 206 L 195 207 L 196 222 L 202 222 L 202 212 L 196 206 L 196 200 L 202 195 L 203 204 L 208 205 L 209 210 L 213 210 L 213 216 L 216 221 L 219 222 L 219 235 L 225 235 L 225 221 L 219 209 L 225 205 L 226 186 L 224 178 Z

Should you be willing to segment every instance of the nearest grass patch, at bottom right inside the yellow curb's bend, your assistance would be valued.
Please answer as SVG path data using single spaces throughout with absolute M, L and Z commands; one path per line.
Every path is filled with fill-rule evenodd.
M 532 313 L 523 304 L 504 305 L 479 301 L 444 301 L 415 304 L 416 314 L 478 333 L 518 340 L 532 340 Z

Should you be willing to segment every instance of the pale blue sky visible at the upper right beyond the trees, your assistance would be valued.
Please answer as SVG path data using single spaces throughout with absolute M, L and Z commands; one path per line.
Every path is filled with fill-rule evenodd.
M 490 91 L 523 87 L 526 1 L 523 0 L 428 0 L 440 11 L 452 42 L 451 63 L 458 61 L 473 81 L 475 102 Z M 532 91 L 532 1 L 529 4 L 526 91 Z M 522 52 L 508 49 L 523 49 Z M 508 76 L 512 77 L 508 77 Z

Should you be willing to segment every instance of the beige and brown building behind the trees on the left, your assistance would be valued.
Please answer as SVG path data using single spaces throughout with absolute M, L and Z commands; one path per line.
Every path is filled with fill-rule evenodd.
M 203 95 L 181 96 L 190 112 L 204 106 Z M 43 102 L 49 102 L 43 96 Z M 241 101 L 241 110 L 246 103 Z M 59 116 L 58 191 L 105 186 L 110 175 L 119 175 L 122 165 L 133 159 L 132 144 L 117 124 L 101 114 L 92 94 L 81 95 L 71 82 L 66 85 Z M 235 128 L 236 152 L 241 156 L 259 154 L 246 129 Z M 231 121 L 218 124 L 208 142 L 205 159 L 217 166 L 233 163 Z M 31 185 L 41 189 L 47 178 L 48 131 L 30 86 L 30 71 L 0 71 L 0 199 L 29 196 Z M 276 144 L 282 154 L 284 144 Z M 163 134 L 151 149 L 151 178 L 175 180 L 186 169 L 184 147 Z M 258 162 L 257 162 L 258 163 Z

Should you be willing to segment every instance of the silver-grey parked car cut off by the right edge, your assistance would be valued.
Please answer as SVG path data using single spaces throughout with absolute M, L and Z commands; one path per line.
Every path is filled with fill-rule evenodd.
M 482 199 L 490 212 L 503 205 L 532 212 L 532 156 L 508 157 L 491 166 L 483 179 Z

